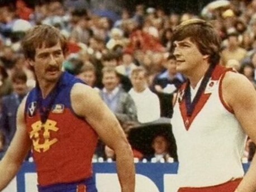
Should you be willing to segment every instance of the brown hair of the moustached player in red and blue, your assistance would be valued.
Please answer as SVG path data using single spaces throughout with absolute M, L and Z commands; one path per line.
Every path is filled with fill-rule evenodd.
M 37 25 L 26 32 L 21 47 L 26 59 L 35 59 L 35 50 L 42 46 L 52 47 L 60 42 L 63 54 L 68 51 L 67 39 L 60 31 L 49 25 Z

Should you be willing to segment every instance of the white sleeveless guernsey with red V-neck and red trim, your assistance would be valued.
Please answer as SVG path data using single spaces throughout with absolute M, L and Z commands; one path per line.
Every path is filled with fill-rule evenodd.
M 181 187 L 203 187 L 243 177 L 241 164 L 246 135 L 224 103 L 221 82 L 228 69 L 217 65 L 191 117 L 187 116 L 184 84 L 172 118 L 178 148 Z

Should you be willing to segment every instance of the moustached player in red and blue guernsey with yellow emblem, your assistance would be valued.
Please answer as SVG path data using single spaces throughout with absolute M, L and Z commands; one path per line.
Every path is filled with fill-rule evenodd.
M 35 26 L 22 48 L 37 83 L 18 108 L 16 135 L 0 162 L 0 190 L 32 148 L 40 192 L 97 192 L 91 161 L 99 136 L 116 153 L 121 191 L 134 192 L 132 151 L 116 117 L 95 90 L 61 71 L 64 36 L 54 27 Z

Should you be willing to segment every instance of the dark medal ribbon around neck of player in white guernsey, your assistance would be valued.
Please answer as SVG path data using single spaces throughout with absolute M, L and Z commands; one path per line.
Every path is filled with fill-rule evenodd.
M 198 88 L 197 93 L 196 93 L 195 98 L 193 99 L 192 103 L 191 103 L 190 81 L 188 80 L 187 87 L 186 87 L 185 93 L 184 93 L 188 117 L 192 116 L 192 113 L 195 110 L 196 104 L 198 103 L 203 92 L 205 91 L 206 85 L 208 84 L 208 81 L 210 80 L 214 69 L 215 69 L 215 65 L 209 66 L 208 70 L 206 71 L 205 76 L 202 79 L 201 85 Z

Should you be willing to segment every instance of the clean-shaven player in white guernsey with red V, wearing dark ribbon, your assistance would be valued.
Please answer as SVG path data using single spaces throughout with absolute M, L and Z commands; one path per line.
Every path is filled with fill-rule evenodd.
M 256 159 L 244 176 L 246 135 L 256 142 L 256 92 L 245 76 L 219 65 L 220 38 L 210 22 L 188 20 L 172 37 L 177 71 L 187 76 L 172 118 L 178 192 L 254 192 Z

